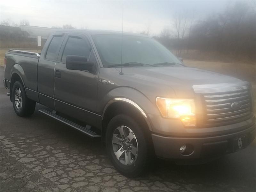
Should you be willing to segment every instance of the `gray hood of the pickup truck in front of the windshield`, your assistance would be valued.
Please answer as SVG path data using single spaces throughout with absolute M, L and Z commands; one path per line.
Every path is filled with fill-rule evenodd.
M 124 76 L 135 80 L 138 84 L 151 83 L 156 90 L 165 85 L 165 88 L 166 86 L 172 88 L 176 96 L 183 97 L 184 94 L 187 96 L 194 94 L 193 85 L 242 82 L 231 76 L 190 67 L 123 68 L 122 71 Z

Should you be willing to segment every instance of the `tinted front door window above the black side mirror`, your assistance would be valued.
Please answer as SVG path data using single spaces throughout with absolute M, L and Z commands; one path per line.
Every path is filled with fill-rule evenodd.
M 66 63 L 67 55 L 84 56 L 88 60 L 90 52 L 91 48 L 85 40 L 80 39 L 79 37 L 69 37 L 61 61 Z

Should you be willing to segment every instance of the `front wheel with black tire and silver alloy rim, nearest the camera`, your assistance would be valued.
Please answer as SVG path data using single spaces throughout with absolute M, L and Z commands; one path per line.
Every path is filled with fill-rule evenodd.
M 130 116 L 117 115 L 108 123 L 106 147 L 115 168 L 127 177 L 146 171 L 150 161 L 145 129 Z

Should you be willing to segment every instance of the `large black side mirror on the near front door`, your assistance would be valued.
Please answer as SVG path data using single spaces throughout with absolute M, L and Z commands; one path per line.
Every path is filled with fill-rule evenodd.
M 84 56 L 67 55 L 66 68 L 80 71 L 87 70 L 94 73 L 96 70 L 96 63 L 87 61 Z

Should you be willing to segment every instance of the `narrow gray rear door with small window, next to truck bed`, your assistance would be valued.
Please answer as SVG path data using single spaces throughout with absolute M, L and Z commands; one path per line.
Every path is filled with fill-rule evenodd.
M 54 106 L 54 68 L 58 58 L 61 44 L 65 33 L 53 33 L 49 36 L 49 41 L 45 44 L 38 63 L 38 97 L 40 103 L 55 109 Z

